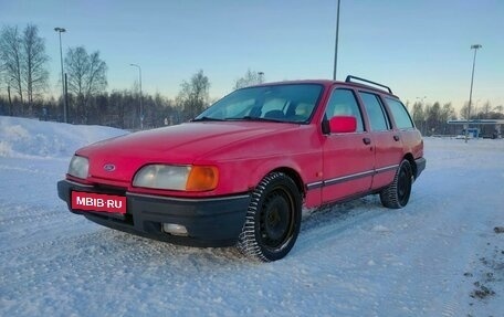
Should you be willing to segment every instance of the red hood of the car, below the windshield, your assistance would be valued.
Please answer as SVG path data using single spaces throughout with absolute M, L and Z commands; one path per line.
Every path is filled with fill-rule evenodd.
M 99 141 L 77 150 L 77 155 L 90 159 L 92 177 L 129 181 L 132 172 L 147 163 L 191 165 L 234 144 L 298 127 L 256 121 L 187 123 Z M 116 169 L 106 171 L 105 165 Z

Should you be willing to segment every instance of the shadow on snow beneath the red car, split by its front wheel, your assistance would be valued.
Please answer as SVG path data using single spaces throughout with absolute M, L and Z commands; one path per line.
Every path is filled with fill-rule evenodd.
M 359 223 L 380 216 L 384 211 L 379 198 L 369 196 L 345 203 L 326 205 L 315 210 L 303 210 L 301 232 L 291 254 L 304 256 L 305 252 L 338 234 L 354 230 Z M 207 265 L 219 268 L 229 265 L 261 264 L 243 256 L 235 247 L 193 247 L 150 240 L 112 229 L 103 229 L 99 247 L 111 249 L 118 261 L 128 258 L 130 263 L 145 265 L 146 262 L 159 265 Z M 94 241 L 96 243 L 96 241 Z

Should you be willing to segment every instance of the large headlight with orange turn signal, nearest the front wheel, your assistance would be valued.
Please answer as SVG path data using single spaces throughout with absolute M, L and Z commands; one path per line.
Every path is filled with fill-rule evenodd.
M 186 191 L 213 190 L 219 181 L 216 167 L 148 165 L 133 179 L 133 186 Z

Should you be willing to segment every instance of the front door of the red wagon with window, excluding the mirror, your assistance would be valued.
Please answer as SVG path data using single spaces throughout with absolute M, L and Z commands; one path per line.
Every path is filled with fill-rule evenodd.
M 325 109 L 325 118 L 354 116 L 357 130 L 327 134 L 323 142 L 323 202 L 342 200 L 370 189 L 375 154 L 355 92 L 335 88 Z

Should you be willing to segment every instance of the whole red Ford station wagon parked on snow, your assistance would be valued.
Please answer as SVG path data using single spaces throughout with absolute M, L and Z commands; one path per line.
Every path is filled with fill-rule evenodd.
M 348 76 L 241 88 L 190 123 L 90 145 L 57 191 L 108 228 L 267 262 L 293 247 L 303 207 L 379 194 L 402 208 L 424 168 L 399 98 Z

